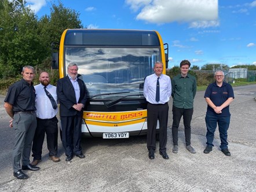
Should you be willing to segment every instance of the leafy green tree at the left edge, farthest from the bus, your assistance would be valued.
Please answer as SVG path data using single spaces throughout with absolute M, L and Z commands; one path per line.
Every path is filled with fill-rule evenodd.
M 35 66 L 42 60 L 35 14 L 22 0 L 2 0 L 0 9 L 0 77 L 7 78 L 20 73 L 24 65 Z

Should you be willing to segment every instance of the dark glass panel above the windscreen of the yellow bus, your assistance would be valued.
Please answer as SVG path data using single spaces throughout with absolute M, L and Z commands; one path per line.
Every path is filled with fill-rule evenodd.
M 131 29 L 67 29 L 64 45 L 160 46 L 156 31 Z

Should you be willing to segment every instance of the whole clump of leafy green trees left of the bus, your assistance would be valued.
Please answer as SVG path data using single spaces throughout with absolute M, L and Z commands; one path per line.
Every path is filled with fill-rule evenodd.
M 66 28 L 82 28 L 79 13 L 58 1 L 40 20 L 24 0 L 0 1 L 0 78 L 15 77 L 24 65 L 50 70 L 51 43 Z

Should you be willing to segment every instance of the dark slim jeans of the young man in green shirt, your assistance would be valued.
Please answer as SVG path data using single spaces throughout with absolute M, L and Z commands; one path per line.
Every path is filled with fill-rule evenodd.
M 191 109 L 181 109 L 176 108 L 173 105 L 173 145 L 178 145 L 178 127 L 180 125 L 181 116 L 183 116 L 183 123 L 185 128 L 185 142 L 186 146 L 191 145 L 191 120 L 193 115 L 193 108 Z

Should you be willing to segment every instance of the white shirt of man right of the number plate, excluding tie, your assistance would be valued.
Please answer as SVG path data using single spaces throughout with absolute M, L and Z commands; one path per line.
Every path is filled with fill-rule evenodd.
M 144 82 L 143 94 L 147 101 L 151 104 L 165 104 L 170 100 L 171 97 L 171 79 L 167 75 L 160 75 L 159 86 L 160 86 L 160 100 L 156 101 L 156 82 L 158 76 L 153 73 L 146 77 Z

